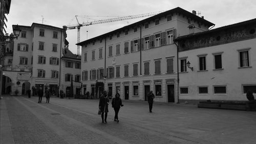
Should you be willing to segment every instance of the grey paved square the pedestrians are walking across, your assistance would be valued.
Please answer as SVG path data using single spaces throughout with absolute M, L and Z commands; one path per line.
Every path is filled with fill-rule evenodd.
M 45 102 L 4 95 L 0 143 L 255 143 L 255 112 L 154 104 L 150 113 L 145 102 L 123 102 L 120 122 L 110 106 L 102 124 L 98 100 Z

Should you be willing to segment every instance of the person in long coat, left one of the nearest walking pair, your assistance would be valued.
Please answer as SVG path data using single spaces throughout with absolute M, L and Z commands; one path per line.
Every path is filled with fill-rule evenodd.
M 106 117 L 108 117 L 108 112 L 109 112 L 109 98 L 107 97 L 107 92 L 104 90 L 100 99 L 99 99 L 99 110 L 101 112 L 101 119 L 102 119 L 102 123 L 107 123 L 106 122 Z M 104 113 L 105 113 L 105 118 L 104 118 Z M 104 121 L 103 121 L 103 118 L 104 118 Z

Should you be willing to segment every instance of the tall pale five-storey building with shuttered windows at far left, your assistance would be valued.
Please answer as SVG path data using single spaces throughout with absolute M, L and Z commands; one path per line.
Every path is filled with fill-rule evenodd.
M 8 93 L 26 94 L 32 89 L 49 88 L 57 95 L 59 88 L 60 58 L 65 47 L 66 30 L 49 25 L 32 23 L 32 26 L 19 26 L 22 29 L 13 43 L 13 58 L 5 67 L 5 76 L 10 79 Z M 7 50 L 6 50 L 7 51 Z M 11 89 L 11 90 L 10 90 Z

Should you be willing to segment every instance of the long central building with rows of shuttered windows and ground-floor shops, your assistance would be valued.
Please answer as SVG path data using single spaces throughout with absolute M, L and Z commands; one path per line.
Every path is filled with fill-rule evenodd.
M 177 103 L 177 36 L 208 31 L 214 24 L 175 8 L 132 25 L 78 43 L 82 46 L 83 89 L 98 98 L 102 87 L 125 100 L 147 101 L 153 90 L 157 102 Z M 101 90 L 100 90 L 101 89 Z

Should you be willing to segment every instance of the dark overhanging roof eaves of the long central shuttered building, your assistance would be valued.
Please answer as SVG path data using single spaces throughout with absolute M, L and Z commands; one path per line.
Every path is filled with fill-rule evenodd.
M 79 42 L 76 45 L 81 45 L 82 46 L 83 44 L 89 43 L 90 41 L 93 41 L 93 40 L 96 40 L 96 39 L 99 39 L 99 38 L 103 38 L 103 37 L 109 36 L 111 34 L 117 33 L 117 32 L 122 31 L 122 30 L 126 30 L 126 29 L 129 29 L 129 28 L 137 27 L 137 26 L 139 26 L 139 25 L 141 25 L 143 23 L 146 23 L 146 22 L 151 21 L 151 20 L 155 20 L 155 19 L 157 19 L 159 17 L 166 16 L 166 15 L 169 15 L 171 13 L 182 13 L 183 15 L 186 15 L 186 16 L 190 17 L 191 19 L 195 19 L 197 21 L 200 21 L 201 23 L 204 23 L 204 25 L 207 25 L 209 27 L 215 25 L 214 23 L 211 23 L 211 22 L 209 22 L 209 21 L 207 21 L 207 20 L 205 20 L 205 19 L 203 19 L 203 18 L 201 18 L 201 17 L 199 17 L 199 16 L 197 16 L 197 15 L 195 15 L 193 13 L 190 13 L 190 12 L 180 8 L 180 7 L 177 7 L 177 8 L 174 8 L 174 9 L 162 12 L 160 14 L 148 17 L 146 19 L 140 20 L 138 22 L 132 23 L 131 25 L 128 25 L 128 26 L 122 27 L 120 29 L 111 31 L 109 33 L 105 33 L 105 34 L 99 35 L 97 37 L 94 37 L 94 38 L 91 38 L 91 39 Z

